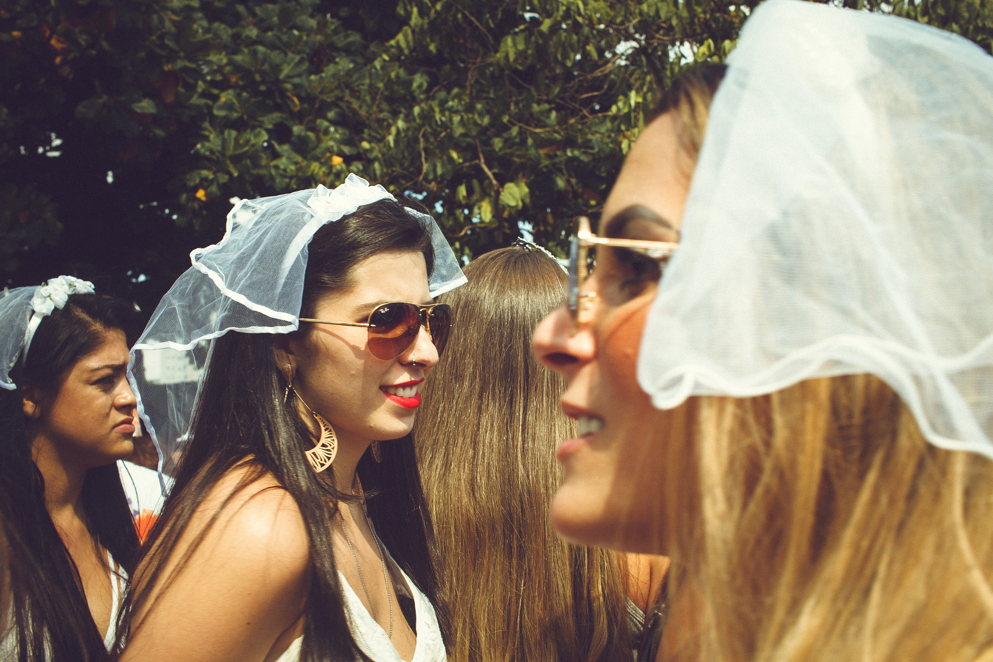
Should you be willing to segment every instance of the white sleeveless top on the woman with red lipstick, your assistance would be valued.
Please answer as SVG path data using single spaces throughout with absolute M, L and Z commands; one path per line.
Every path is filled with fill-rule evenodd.
M 399 568 L 399 566 L 397 566 Z M 424 596 L 414 583 L 410 581 L 407 574 L 400 569 L 403 581 L 407 583 L 410 595 L 414 597 L 414 611 L 417 623 L 417 646 L 414 648 L 414 657 L 409 662 L 446 662 L 445 643 L 441 638 L 441 628 L 438 627 L 438 617 L 435 615 L 434 606 L 431 605 L 427 596 Z M 363 653 L 375 662 L 402 662 L 400 654 L 393 648 L 386 631 L 382 629 L 368 609 L 362 604 L 352 585 L 345 579 L 345 575 L 338 574 L 342 583 L 342 592 L 345 596 L 345 615 L 349 619 L 349 628 L 355 643 Z M 397 609 L 399 611 L 399 609 Z M 403 616 L 400 615 L 402 618 Z M 304 638 L 297 637 L 290 644 L 290 647 L 280 655 L 276 662 L 298 662 L 300 660 L 300 646 Z

